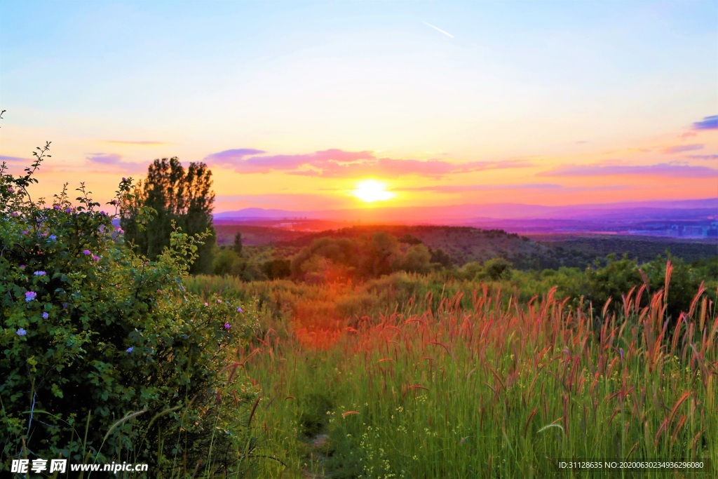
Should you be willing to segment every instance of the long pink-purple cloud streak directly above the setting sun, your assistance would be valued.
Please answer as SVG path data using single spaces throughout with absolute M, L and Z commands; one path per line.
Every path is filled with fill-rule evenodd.
M 454 163 L 443 159 L 420 161 L 418 159 L 378 158 L 373 152 L 345 152 L 342 149 L 327 149 L 309 154 L 267 156 L 252 156 L 253 152 L 258 152 L 258 150 L 227 150 L 210 154 L 205 157 L 205 161 L 233 167 L 240 173 L 286 172 L 288 175 L 330 178 L 365 175 L 441 177 L 453 173 L 533 165 L 526 159 Z

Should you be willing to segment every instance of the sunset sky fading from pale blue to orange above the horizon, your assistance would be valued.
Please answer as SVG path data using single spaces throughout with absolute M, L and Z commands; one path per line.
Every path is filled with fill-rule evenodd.
M 718 2 L 2 0 L 0 109 L 48 197 L 174 156 L 217 212 L 717 197 Z

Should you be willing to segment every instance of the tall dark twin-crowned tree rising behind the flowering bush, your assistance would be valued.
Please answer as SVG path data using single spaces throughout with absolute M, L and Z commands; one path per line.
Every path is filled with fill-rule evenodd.
M 120 223 L 134 250 L 152 261 L 157 259 L 169 246 L 174 223 L 190 235 L 206 231 L 208 235 L 198 245 L 197 261 L 190 266 L 190 273 L 209 272 L 215 243 L 211 177 L 212 172 L 202 162 L 190 163 L 185 171 L 177 157 L 154 160 L 144 183 L 139 182 L 131 198 L 121 203 Z M 147 225 L 137 222 L 142 207 L 152 208 L 156 215 Z

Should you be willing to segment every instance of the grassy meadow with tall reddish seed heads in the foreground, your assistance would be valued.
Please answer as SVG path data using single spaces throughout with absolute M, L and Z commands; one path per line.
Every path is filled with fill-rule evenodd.
M 248 418 L 253 477 L 711 477 L 718 316 L 701 285 L 667 321 L 672 269 L 661 288 L 598 307 L 550 278 L 531 293 L 516 281 L 406 273 L 185 286 L 258 300 L 260 330 L 233 358 L 261 390 Z M 560 470 L 561 460 L 704 469 L 595 475 Z

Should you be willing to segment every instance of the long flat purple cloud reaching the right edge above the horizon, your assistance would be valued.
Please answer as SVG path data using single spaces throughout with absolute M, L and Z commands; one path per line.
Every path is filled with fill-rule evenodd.
M 629 164 L 583 164 L 563 165 L 546 172 L 540 177 L 580 177 L 580 176 L 620 176 L 640 175 L 651 177 L 714 178 L 718 169 L 694 167 L 680 162 L 629 165 Z

